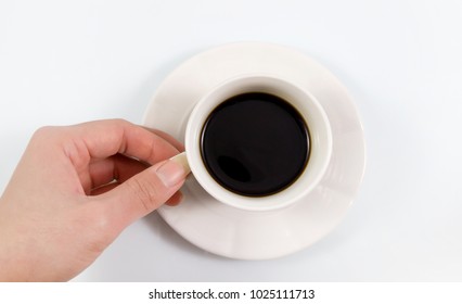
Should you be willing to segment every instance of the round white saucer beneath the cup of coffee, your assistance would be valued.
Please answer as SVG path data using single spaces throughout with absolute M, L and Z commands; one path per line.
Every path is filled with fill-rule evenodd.
M 181 64 L 158 88 L 144 125 L 183 141 L 195 103 L 218 84 L 247 73 L 279 75 L 311 92 L 324 107 L 333 151 L 319 186 L 290 207 L 249 212 L 216 201 L 190 177 L 182 189 L 184 201 L 158 212 L 179 235 L 208 252 L 266 259 L 299 251 L 339 224 L 362 180 L 364 139 L 355 104 L 326 68 L 298 51 L 260 42 L 226 45 Z

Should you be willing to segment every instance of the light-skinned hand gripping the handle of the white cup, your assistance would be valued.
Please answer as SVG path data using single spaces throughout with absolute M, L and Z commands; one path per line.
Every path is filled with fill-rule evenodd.
M 189 169 L 168 159 L 180 151 L 120 119 L 39 129 L 0 198 L 0 281 L 69 280 L 132 221 L 179 203 Z

